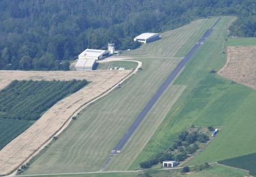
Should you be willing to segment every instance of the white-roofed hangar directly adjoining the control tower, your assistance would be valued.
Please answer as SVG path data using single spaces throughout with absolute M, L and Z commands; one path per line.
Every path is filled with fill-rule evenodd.
M 96 50 L 87 48 L 85 51 L 79 54 L 79 59 L 101 60 L 105 57 L 109 57 L 109 50 Z

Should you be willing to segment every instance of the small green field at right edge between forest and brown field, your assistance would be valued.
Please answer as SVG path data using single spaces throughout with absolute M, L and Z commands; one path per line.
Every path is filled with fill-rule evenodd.
M 256 46 L 256 37 L 229 38 L 228 46 Z

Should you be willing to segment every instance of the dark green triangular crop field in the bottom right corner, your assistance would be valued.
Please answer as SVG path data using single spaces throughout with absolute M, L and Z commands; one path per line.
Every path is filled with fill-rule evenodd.
M 231 159 L 225 159 L 223 161 L 218 161 L 223 165 L 228 165 L 231 167 L 238 167 L 244 170 L 250 171 L 250 174 L 256 176 L 256 153 L 251 155 L 243 155 L 240 157 L 234 157 Z

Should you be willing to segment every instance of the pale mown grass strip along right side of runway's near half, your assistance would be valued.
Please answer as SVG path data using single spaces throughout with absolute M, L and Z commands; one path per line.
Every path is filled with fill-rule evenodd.
M 159 100 L 153 106 L 152 110 L 145 116 L 143 122 L 134 134 L 128 140 L 123 150 L 111 160 L 106 170 L 128 170 L 128 167 L 137 158 L 141 150 L 150 140 L 158 126 L 162 123 L 169 109 L 175 101 L 182 95 L 186 86 L 174 85 L 169 86 L 165 93 L 161 95 Z M 166 99 L 168 98 L 168 99 Z M 122 163 L 120 163 L 122 161 Z

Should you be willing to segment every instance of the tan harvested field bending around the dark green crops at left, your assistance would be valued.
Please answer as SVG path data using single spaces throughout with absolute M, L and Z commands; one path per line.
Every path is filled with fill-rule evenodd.
M 72 80 L 91 81 L 80 91 L 57 102 L 29 129 L 12 140 L 0 151 L 0 176 L 10 174 L 55 134 L 66 121 L 85 103 L 102 95 L 130 70 L 118 71 L 0 71 L 0 89 L 12 80 Z

